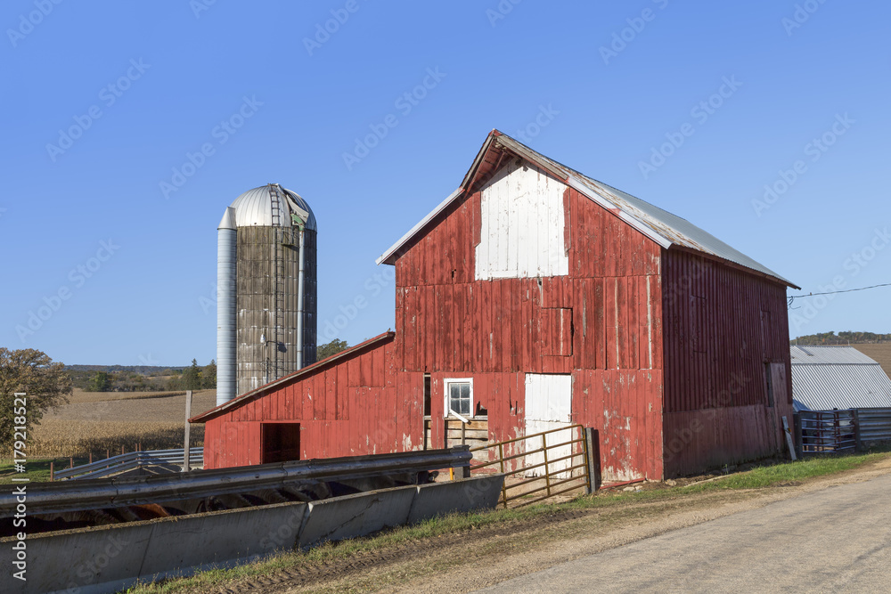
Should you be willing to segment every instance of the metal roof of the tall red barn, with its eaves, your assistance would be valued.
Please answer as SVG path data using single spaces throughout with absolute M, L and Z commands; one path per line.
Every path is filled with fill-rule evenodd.
M 662 208 L 654 206 L 645 200 L 636 198 L 624 191 L 617 190 L 606 183 L 598 182 L 587 175 L 582 175 L 575 169 L 566 167 L 553 159 L 549 159 L 541 153 L 533 151 L 525 144 L 518 142 L 497 130 L 493 130 L 486 138 L 486 142 L 483 144 L 482 149 L 480 149 L 477 158 L 474 159 L 470 171 L 464 176 L 464 180 L 458 190 L 454 191 L 452 195 L 439 204 L 439 206 L 437 206 L 428 216 L 425 216 L 419 224 L 414 225 L 411 231 L 405 233 L 402 239 L 398 240 L 391 248 L 384 252 L 384 254 L 378 258 L 378 264 L 394 264 L 396 261 L 396 254 L 406 243 L 411 241 L 416 234 L 421 232 L 421 229 L 423 229 L 431 219 L 448 207 L 451 202 L 458 199 L 463 191 L 470 189 L 470 184 L 473 183 L 478 168 L 484 162 L 486 153 L 490 150 L 510 151 L 523 159 L 535 163 L 538 167 L 542 167 L 552 175 L 559 177 L 564 183 L 567 183 L 567 185 L 574 188 L 576 191 L 581 192 L 584 196 L 615 213 L 626 223 L 632 225 L 635 229 L 656 241 L 663 248 L 678 246 L 695 249 L 699 252 L 727 260 L 733 264 L 739 264 L 740 266 L 769 276 L 772 279 L 781 281 L 789 287 L 799 289 L 794 283 L 783 278 L 780 274 L 774 273 L 770 268 L 764 266 L 764 264 L 756 262 L 739 250 L 732 248 L 722 240 L 717 239 L 711 233 L 700 229 L 686 219 L 683 219 L 680 216 L 675 216 Z

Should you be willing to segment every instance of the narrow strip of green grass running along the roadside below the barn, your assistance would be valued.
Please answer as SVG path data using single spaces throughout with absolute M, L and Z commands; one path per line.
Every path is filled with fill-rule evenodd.
M 520 509 L 495 509 L 494 511 L 435 517 L 419 525 L 396 528 L 376 536 L 340 541 L 334 544 L 326 543 L 305 552 L 279 553 L 274 557 L 231 569 L 213 569 L 188 578 L 138 584 L 127 592 L 131 594 L 174 594 L 185 590 L 213 590 L 230 582 L 272 574 L 280 569 L 322 565 L 346 559 L 357 553 L 386 548 L 406 541 L 464 533 L 488 525 L 523 522 L 536 517 L 560 514 L 572 509 L 606 508 L 634 501 L 682 499 L 686 495 L 720 490 L 764 489 L 857 468 L 868 462 L 887 459 L 888 452 L 891 450 L 886 448 L 865 454 L 811 458 L 804 461 L 754 468 L 748 472 L 725 476 L 707 483 L 672 489 L 601 492 L 598 495 L 581 496 L 563 503 L 544 503 Z

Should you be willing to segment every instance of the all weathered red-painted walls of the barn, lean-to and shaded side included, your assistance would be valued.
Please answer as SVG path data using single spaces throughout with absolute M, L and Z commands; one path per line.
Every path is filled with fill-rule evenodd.
M 396 256 L 392 339 L 202 415 L 208 468 L 257 463 L 260 423 L 273 420 L 301 423 L 304 457 L 421 448 L 425 373 L 432 419 L 444 417 L 445 380 L 473 378 L 492 441 L 524 435 L 527 373 L 571 374 L 572 421 L 598 430 L 605 480 L 781 451 L 785 286 L 662 248 L 574 189 L 563 199 L 568 275 L 476 281 L 479 187 L 508 160 L 483 155 L 459 198 Z M 429 445 L 445 446 L 443 423 L 431 434 Z

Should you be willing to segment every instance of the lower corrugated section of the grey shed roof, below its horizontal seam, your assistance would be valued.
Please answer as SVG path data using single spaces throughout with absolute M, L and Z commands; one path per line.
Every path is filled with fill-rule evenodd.
M 793 362 L 792 397 L 797 411 L 891 407 L 891 379 L 875 362 L 867 365 Z

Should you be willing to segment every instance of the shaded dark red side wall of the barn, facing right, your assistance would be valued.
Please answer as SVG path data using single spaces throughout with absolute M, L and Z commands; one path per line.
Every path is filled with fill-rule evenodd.
M 780 452 L 792 418 L 786 288 L 696 254 L 663 254 L 666 475 Z M 765 362 L 782 363 L 768 408 Z

